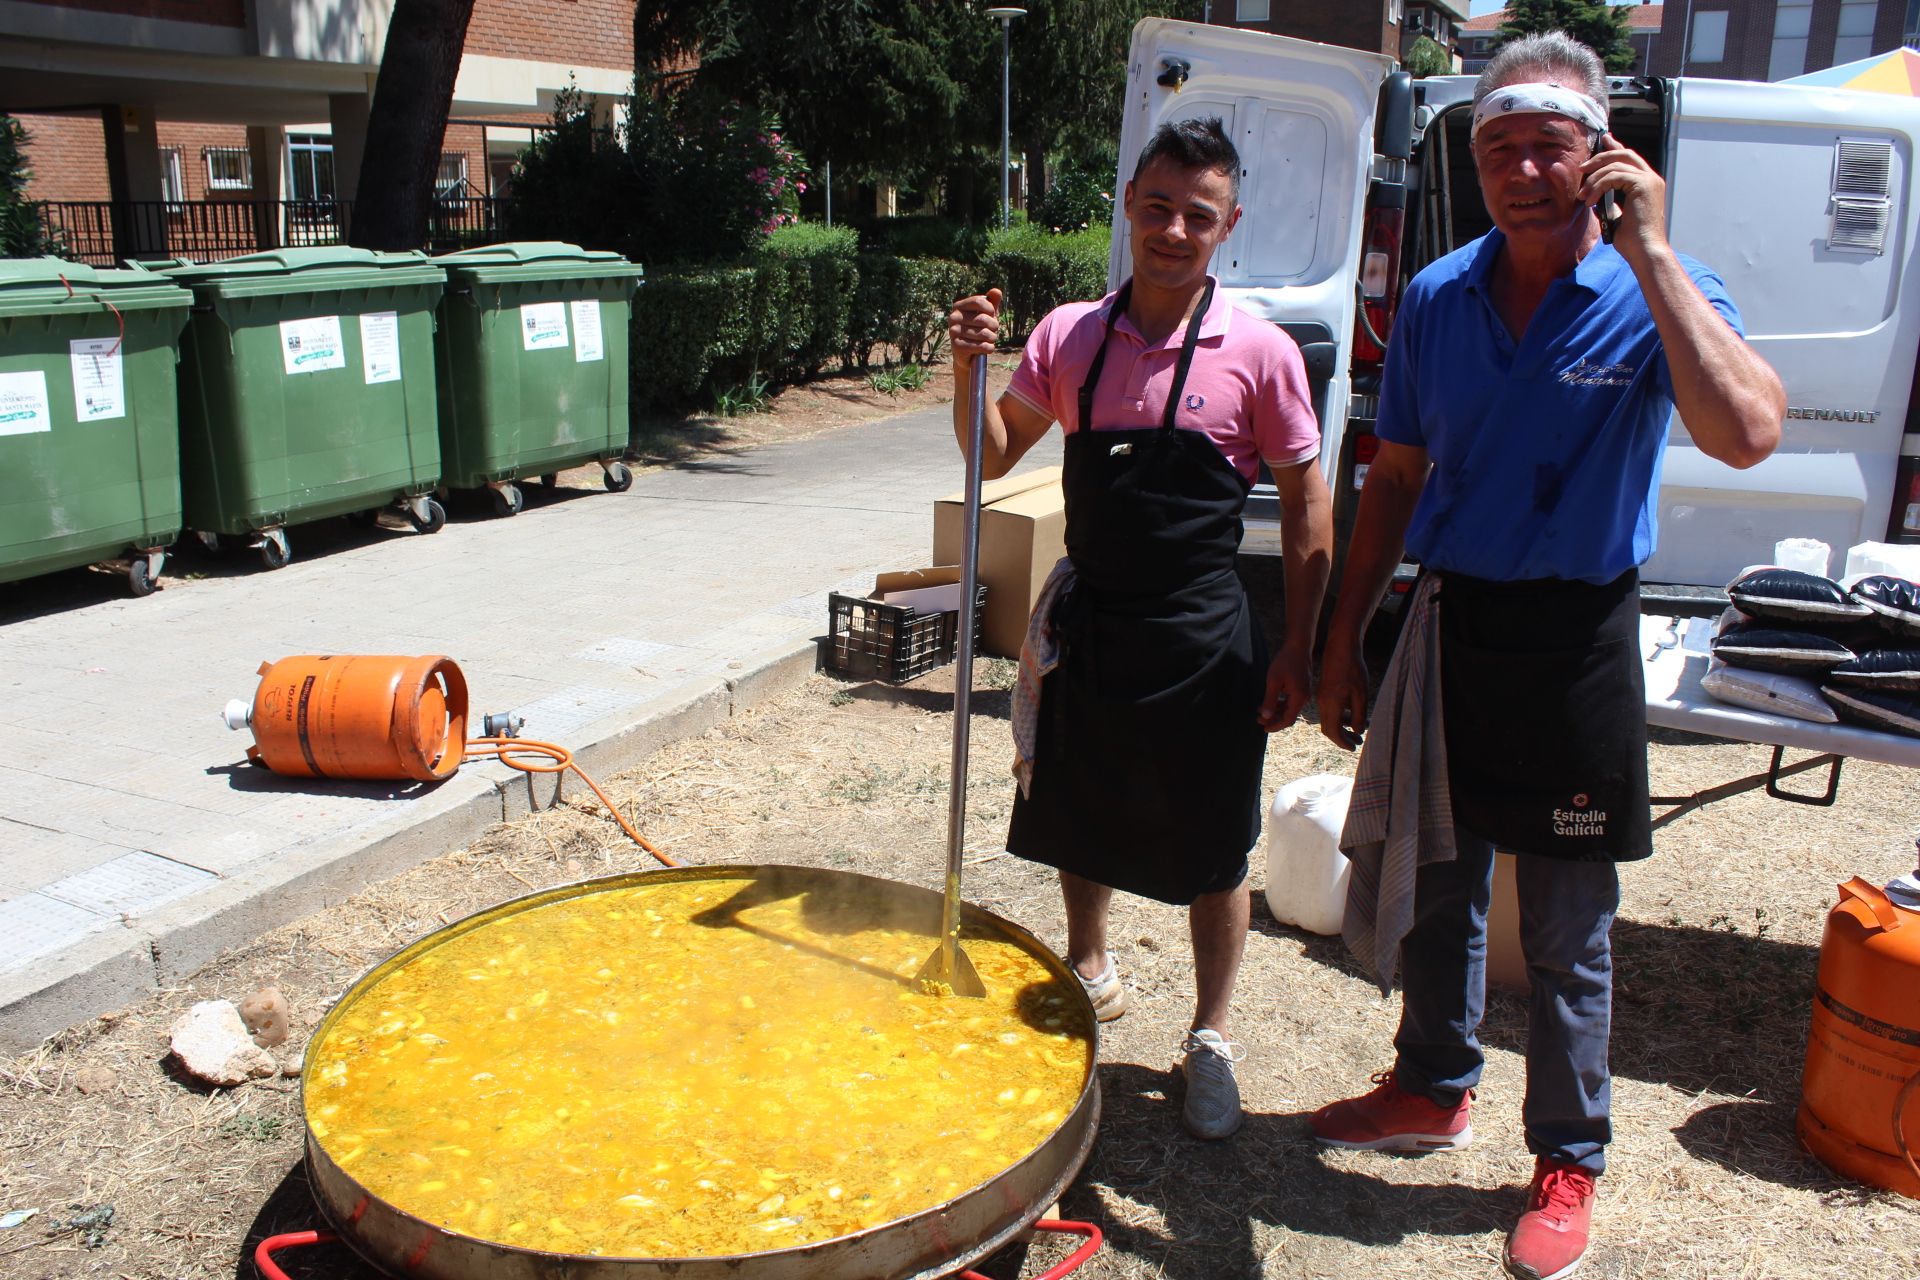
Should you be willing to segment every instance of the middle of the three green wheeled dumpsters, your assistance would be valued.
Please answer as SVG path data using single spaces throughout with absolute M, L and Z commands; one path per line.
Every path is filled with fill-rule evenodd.
M 246 539 L 267 568 L 286 526 L 382 509 L 438 532 L 434 305 L 424 253 L 273 249 L 169 267 L 194 292 L 180 342 L 180 487 L 207 545 Z

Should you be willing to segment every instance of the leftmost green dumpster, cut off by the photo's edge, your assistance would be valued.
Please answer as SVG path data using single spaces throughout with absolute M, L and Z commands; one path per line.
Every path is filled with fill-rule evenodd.
M 0 261 L 0 581 L 125 557 L 132 593 L 154 589 L 180 533 L 190 303 L 138 271 Z

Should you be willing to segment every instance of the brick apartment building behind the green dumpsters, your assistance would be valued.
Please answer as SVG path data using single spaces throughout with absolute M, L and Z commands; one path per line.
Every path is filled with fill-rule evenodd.
M 0 0 L 0 111 L 86 257 L 334 238 L 394 0 Z M 444 200 L 486 213 L 568 84 L 622 98 L 632 0 L 476 0 Z M 248 203 L 250 209 L 240 205 Z

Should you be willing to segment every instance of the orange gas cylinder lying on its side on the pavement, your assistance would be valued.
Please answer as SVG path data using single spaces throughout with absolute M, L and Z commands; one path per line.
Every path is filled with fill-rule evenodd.
M 259 664 L 253 702 L 227 704 L 253 729 L 248 760 L 300 777 L 434 781 L 461 768 L 467 677 L 428 654 L 301 654 Z

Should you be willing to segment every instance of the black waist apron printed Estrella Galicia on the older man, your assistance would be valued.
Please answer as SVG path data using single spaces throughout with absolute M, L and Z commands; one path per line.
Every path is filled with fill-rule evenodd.
M 1574 862 L 1653 852 L 1640 574 L 1592 585 L 1440 574 L 1453 821 Z

